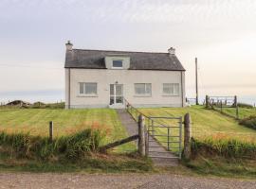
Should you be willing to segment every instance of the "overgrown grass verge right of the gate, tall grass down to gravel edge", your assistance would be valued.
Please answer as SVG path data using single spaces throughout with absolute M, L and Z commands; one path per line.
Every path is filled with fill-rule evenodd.
M 192 139 L 192 159 L 183 163 L 199 174 L 255 179 L 256 143 L 230 138 Z

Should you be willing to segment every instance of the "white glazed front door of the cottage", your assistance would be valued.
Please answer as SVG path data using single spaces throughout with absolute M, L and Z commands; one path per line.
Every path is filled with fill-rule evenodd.
M 123 106 L 123 85 L 110 84 L 110 106 L 112 108 L 122 108 Z

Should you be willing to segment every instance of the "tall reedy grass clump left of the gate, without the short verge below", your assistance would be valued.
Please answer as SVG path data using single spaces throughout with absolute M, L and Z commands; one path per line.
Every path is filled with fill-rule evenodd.
M 31 136 L 29 133 L 7 134 L 0 132 L 0 146 L 16 157 L 49 160 L 64 156 L 66 159 L 77 160 L 97 151 L 105 138 L 100 129 L 84 129 L 78 133 L 54 139 Z

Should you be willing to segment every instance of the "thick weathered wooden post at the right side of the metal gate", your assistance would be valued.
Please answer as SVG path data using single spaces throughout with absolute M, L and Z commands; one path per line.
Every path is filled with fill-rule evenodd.
M 190 113 L 186 113 L 184 116 L 184 157 L 185 159 L 190 159 L 191 157 L 191 140 L 192 140 L 191 115 Z

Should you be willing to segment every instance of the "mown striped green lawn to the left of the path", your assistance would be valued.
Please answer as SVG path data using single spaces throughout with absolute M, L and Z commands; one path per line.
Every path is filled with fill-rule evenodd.
M 127 136 L 117 112 L 112 109 L 0 110 L 0 130 L 5 130 L 8 133 L 29 132 L 32 135 L 47 136 L 49 121 L 53 121 L 54 124 L 54 137 L 68 135 L 91 127 L 106 131 L 105 144 Z M 117 148 L 118 151 L 134 149 L 133 144 Z

